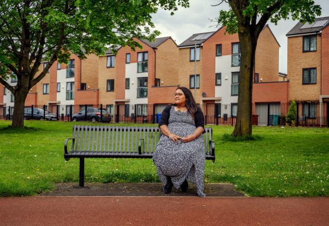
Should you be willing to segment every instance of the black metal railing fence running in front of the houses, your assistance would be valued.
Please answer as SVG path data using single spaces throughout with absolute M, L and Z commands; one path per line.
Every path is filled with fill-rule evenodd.
M 167 104 L 118 105 L 32 105 L 24 118 L 60 121 L 100 121 L 107 123 L 158 123 Z M 237 104 L 208 103 L 199 106 L 207 125 L 235 125 Z M 0 106 L 0 119 L 10 120 L 13 107 Z M 254 103 L 253 125 L 293 125 L 329 127 L 329 104 L 319 102 Z

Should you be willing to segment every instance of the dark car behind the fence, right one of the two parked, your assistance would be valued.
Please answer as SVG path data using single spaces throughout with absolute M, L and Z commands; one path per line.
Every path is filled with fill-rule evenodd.
M 72 115 L 73 121 L 101 121 L 101 109 L 100 108 L 87 108 L 80 110 L 78 113 Z M 107 110 L 102 109 L 102 122 L 111 122 L 111 114 Z

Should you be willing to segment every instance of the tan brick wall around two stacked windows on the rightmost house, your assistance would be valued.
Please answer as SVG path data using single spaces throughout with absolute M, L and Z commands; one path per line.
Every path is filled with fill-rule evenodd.
M 303 85 L 303 68 L 317 68 L 317 84 Z M 303 36 L 288 37 L 289 101 L 318 101 L 321 92 L 321 36 L 317 51 L 303 52 Z

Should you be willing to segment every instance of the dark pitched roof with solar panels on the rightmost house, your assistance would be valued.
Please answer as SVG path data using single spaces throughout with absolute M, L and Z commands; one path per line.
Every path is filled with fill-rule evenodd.
M 313 24 L 298 22 L 287 34 L 290 35 L 302 35 L 307 33 L 317 33 L 325 28 L 329 24 L 329 16 L 316 18 Z

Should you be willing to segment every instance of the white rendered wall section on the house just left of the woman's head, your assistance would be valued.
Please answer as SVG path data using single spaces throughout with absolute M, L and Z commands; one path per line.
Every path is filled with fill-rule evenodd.
M 138 86 L 137 78 L 141 78 L 141 77 L 148 77 L 148 72 L 137 73 L 137 63 L 130 63 L 125 65 L 125 78 L 130 79 L 129 81 L 130 89 L 125 89 L 125 99 L 130 99 L 130 102 L 126 104 L 148 103 L 148 98 L 137 98 L 137 86 Z

